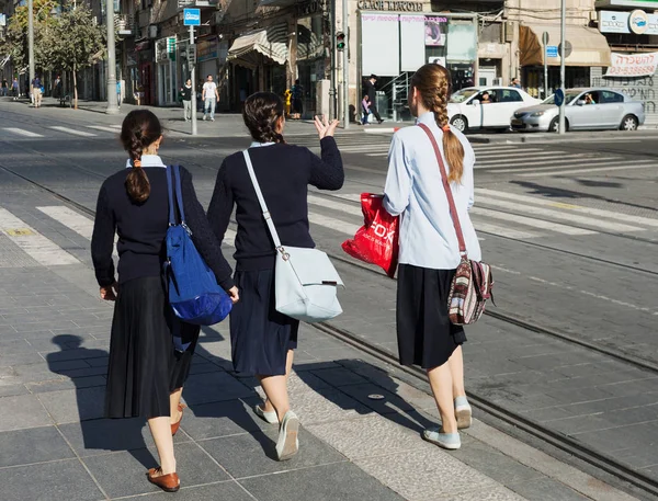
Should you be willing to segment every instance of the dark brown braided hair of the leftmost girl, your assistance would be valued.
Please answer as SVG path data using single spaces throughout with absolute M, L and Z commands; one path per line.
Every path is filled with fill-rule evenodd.
M 131 200 L 137 204 L 143 204 L 150 196 L 150 181 L 141 169 L 141 152 L 161 135 L 160 121 L 148 110 L 132 111 L 123 121 L 121 141 L 133 161 L 125 185 Z

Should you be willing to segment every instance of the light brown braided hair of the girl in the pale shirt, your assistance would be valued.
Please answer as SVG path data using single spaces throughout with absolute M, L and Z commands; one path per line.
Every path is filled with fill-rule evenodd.
M 462 181 L 464 173 L 464 146 L 452 132 L 447 116 L 451 92 L 450 71 L 440 65 L 424 65 L 411 77 L 411 87 L 420 93 L 422 105 L 434 113 L 436 125 L 443 130 L 443 153 L 450 167 L 447 180 Z

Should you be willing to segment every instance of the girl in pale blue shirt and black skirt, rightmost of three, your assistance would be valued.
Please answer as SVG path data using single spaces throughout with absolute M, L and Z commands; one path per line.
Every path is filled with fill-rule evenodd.
M 450 82 L 450 72 L 442 66 L 422 66 L 411 78 L 409 109 L 442 145 L 468 258 L 480 261 L 468 216 L 475 153 L 466 137 L 449 125 Z M 470 425 L 462 355 L 466 335 L 461 326 L 450 322 L 447 312 L 460 246 L 436 156 L 421 127 L 405 127 L 393 136 L 384 192 L 386 210 L 402 215 L 397 288 L 400 364 L 420 365 L 430 379 L 442 426 L 426 430 L 423 437 L 456 449 L 461 446 L 457 429 Z

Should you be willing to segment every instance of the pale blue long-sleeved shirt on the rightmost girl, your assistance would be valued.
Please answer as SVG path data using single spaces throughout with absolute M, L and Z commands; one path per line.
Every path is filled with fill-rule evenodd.
M 443 132 L 436 125 L 434 114 L 424 113 L 417 123 L 430 128 L 443 155 Z M 454 128 L 452 133 L 464 147 L 464 173 L 460 183 L 451 184 L 452 193 L 468 258 L 479 261 L 481 251 L 468 216 L 474 202 L 475 152 L 462 133 Z M 457 267 L 457 235 L 450 216 L 436 156 L 422 128 L 405 127 L 393 136 L 384 193 L 386 210 L 394 216 L 401 215 L 399 262 L 434 270 Z

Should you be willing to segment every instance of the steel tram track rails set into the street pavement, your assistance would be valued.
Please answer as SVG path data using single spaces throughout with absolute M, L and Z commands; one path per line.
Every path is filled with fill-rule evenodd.
M 91 217 L 95 216 L 95 210 L 84 206 L 83 204 L 76 202 L 75 200 L 72 200 L 66 195 L 63 195 L 61 193 L 57 192 L 56 190 L 53 190 L 53 189 L 50 189 L 42 183 L 38 183 L 19 172 L 15 172 L 11 168 L 0 164 L 0 170 L 3 170 L 8 173 L 15 175 L 16 178 L 55 196 L 57 200 L 60 200 L 61 202 L 70 205 L 71 207 L 80 210 L 83 214 L 87 214 Z M 382 273 L 379 273 L 376 270 L 373 270 L 366 265 L 363 265 L 356 261 L 345 259 L 342 255 L 337 255 L 336 253 L 331 253 L 331 252 L 329 253 L 329 255 L 331 255 L 332 259 L 336 259 L 338 261 L 341 261 L 341 262 L 347 263 L 352 266 L 356 266 L 361 270 L 365 270 L 370 273 L 378 275 L 379 277 L 383 277 Z M 526 329 L 532 332 L 537 332 L 537 333 L 541 333 L 544 335 L 549 335 L 549 337 L 553 337 L 556 339 L 560 339 L 561 341 L 572 343 L 580 348 L 585 348 L 587 350 L 591 350 L 597 353 L 604 354 L 606 356 L 610 356 L 611 358 L 614 358 L 619 362 L 626 363 L 633 367 L 642 368 L 644 371 L 649 371 L 651 373 L 658 374 L 658 364 L 651 363 L 649 361 L 640 360 L 640 358 L 637 358 L 629 354 L 615 352 L 613 350 L 609 350 L 603 346 L 598 346 L 598 345 L 590 343 L 588 341 L 585 341 L 582 339 L 571 337 L 564 332 L 547 329 L 545 327 L 534 324 L 532 322 L 527 322 L 525 320 L 515 318 L 514 316 L 509 315 L 509 314 L 501 314 L 498 311 L 487 310 L 485 315 L 488 317 L 495 318 L 497 320 Z M 338 328 L 338 327 L 333 326 L 330 321 L 311 324 L 311 328 L 314 328 L 327 335 L 331 335 L 332 338 L 340 340 L 340 341 L 344 342 L 345 344 L 351 345 L 351 346 L 355 348 L 356 350 L 361 351 L 362 353 L 365 353 L 376 360 L 379 360 L 386 364 L 395 365 L 400 372 L 404 372 L 405 374 L 411 376 L 418 383 L 421 383 L 421 382 L 427 383 L 427 376 L 426 376 L 424 371 L 422 371 L 418 367 L 399 366 L 397 357 L 393 353 L 375 345 L 372 342 L 368 342 L 366 339 L 359 337 L 354 332 Z M 527 433 L 536 439 L 540 439 L 541 441 L 545 442 L 546 444 L 549 444 L 553 447 L 556 447 L 563 452 L 566 452 L 567 454 L 570 454 L 574 457 L 576 457 L 582 462 L 586 462 L 587 464 L 600 469 L 601 471 L 612 475 L 613 477 L 620 479 L 623 482 L 627 482 L 628 485 L 632 485 L 635 488 L 640 489 L 643 492 L 658 497 L 658 479 L 657 478 L 653 478 L 648 475 L 645 475 L 642 471 L 638 471 L 638 470 L 634 469 L 633 467 L 616 460 L 614 457 L 612 457 L 609 454 L 597 451 L 595 448 L 590 447 L 587 444 L 583 444 L 582 442 L 571 439 L 563 433 L 556 432 L 556 431 L 549 429 L 548 426 L 545 426 L 536 421 L 533 421 L 531 419 L 525 418 L 524 415 L 521 415 L 518 412 L 514 412 L 510 409 L 506 409 L 504 407 L 496 403 L 495 401 L 492 401 L 491 399 L 489 399 L 483 395 L 479 395 L 476 391 L 468 391 L 468 397 L 469 397 L 472 403 L 474 405 L 474 407 L 476 407 L 480 411 L 483 411 L 483 412 L 485 412 L 509 425 L 515 426 L 517 429 L 523 431 L 524 433 Z

